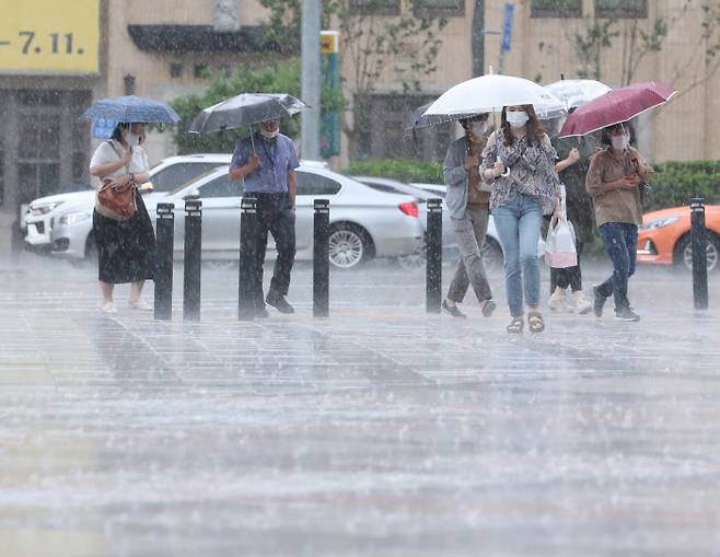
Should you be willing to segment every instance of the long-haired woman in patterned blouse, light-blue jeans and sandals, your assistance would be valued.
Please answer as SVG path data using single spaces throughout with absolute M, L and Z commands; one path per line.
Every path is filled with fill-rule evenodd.
M 543 214 L 560 213 L 557 154 L 532 105 L 503 107 L 500 121 L 483 152 L 480 173 L 492 184 L 490 210 L 504 253 L 512 316 L 507 329 L 522 333 L 525 304 L 531 333 L 541 333 L 537 242 Z

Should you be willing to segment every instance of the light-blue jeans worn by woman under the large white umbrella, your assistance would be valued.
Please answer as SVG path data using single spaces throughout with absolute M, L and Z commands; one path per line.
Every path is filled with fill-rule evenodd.
M 543 208 L 525 195 L 492 209 L 495 228 L 504 253 L 508 307 L 513 317 L 523 314 L 523 292 L 527 305 L 539 305 L 537 241 Z

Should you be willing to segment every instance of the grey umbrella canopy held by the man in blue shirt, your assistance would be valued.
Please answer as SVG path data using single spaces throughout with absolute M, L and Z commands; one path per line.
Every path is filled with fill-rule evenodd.
M 309 106 L 283 93 L 243 93 L 205 108 L 188 129 L 194 134 L 211 134 L 242 128 L 259 121 L 292 116 Z

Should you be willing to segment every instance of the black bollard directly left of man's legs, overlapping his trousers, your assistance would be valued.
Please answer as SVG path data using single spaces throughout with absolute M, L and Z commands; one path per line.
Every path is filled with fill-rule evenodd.
M 255 292 L 257 280 L 255 272 L 255 258 L 257 245 L 257 199 L 249 194 L 243 196 L 240 204 L 240 270 L 237 285 L 237 318 L 253 321 L 255 317 Z M 263 285 L 259 285 L 260 291 Z

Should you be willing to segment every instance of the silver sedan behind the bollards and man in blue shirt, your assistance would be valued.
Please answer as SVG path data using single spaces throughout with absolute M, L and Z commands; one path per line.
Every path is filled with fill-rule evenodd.
M 198 195 L 202 201 L 202 257 L 236 259 L 240 248 L 240 201 L 242 188 L 228 176 L 228 166 L 212 170 L 194 182 L 165 195 L 146 196 L 151 218 L 155 219 L 159 202 L 175 205 L 175 254 L 182 256 L 185 198 Z M 418 209 L 411 196 L 385 194 L 340 174 L 322 164 L 302 162 L 298 169 L 297 245 L 298 259 L 313 257 L 313 200 L 324 198 L 330 207 L 330 263 L 351 268 L 376 257 L 411 254 L 422 242 Z M 59 218 L 53 229 L 54 245 L 67 248 L 58 254 L 84 256 L 88 242 L 86 223 L 92 227 L 92 206 Z M 271 236 L 270 236 L 271 239 Z M 268 244 L 268 257 L 275 246 Z M 82 254 L 82 255 L 81 255 Z

